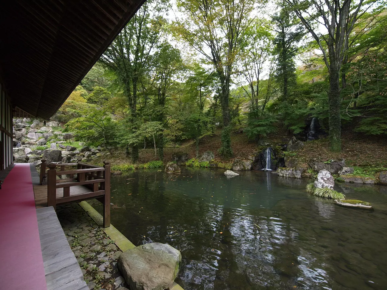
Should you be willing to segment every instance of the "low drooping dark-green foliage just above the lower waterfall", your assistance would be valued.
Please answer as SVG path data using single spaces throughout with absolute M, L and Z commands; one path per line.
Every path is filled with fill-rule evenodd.
M 251 106 L 247 115 L 247 127 L 243 132 L 250 140 L 259 140 L 260 137 L 266 137 L 269 133 L 276 131 L 274 124 L 277 119 L 271 113 Z

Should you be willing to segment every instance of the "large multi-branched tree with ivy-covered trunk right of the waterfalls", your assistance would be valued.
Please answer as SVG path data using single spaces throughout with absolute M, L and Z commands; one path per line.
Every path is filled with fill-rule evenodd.
M 358 19 L 377 3 L 359 0 L 284 0 L 312 34 L 329 72 L 329 146 L 341 151 L 341 66 L 349 48 L 349 37 Z M 369 21 L 368 24 L 371 24 Z M 362 25 L 362 30 L 368 28 Z M 319 28 L 317 28 L 319 27 Z M 326 34 L 321 32 L 326 29 Z M 360 35 L 359 31 L 357 31 Z

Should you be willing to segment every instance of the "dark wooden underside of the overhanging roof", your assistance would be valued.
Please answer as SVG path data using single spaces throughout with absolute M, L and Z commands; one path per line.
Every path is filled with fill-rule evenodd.
M 3 3 L 0 67 L 12 106 L 50 118 L 144 2 Z

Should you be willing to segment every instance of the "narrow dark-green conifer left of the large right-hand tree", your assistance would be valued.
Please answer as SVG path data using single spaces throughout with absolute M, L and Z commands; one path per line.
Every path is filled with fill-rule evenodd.
M 297 53 L 296 44 L 305 35 L 300 20 L 280 4 L 281 10 L 272 16 L 277 32 L 274 39 L 274 55 L 276 55 L 276 80 L 281 86 L 282 101 L 288 101 L 289 87 L 296 84 L 296 67 L 294 58 Z

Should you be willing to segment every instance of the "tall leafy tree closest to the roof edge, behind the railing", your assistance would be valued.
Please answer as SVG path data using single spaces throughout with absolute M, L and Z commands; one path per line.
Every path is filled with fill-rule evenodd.
M 127 97 L 130 108 L 129 133 L 134 134 L 139 128 L 137 120 L 139 80 L 145 73 L 151 53 L 161 38 L 165 24 L 162 15 L 167 6 L 164 0 L 145 2 L 99 60 L 106 68 L 115 72 L 123 86 L 123 94 Z M 137 143 L 131 143 L 130 147 L 132 161 L 137 162 L 139 146 Z

